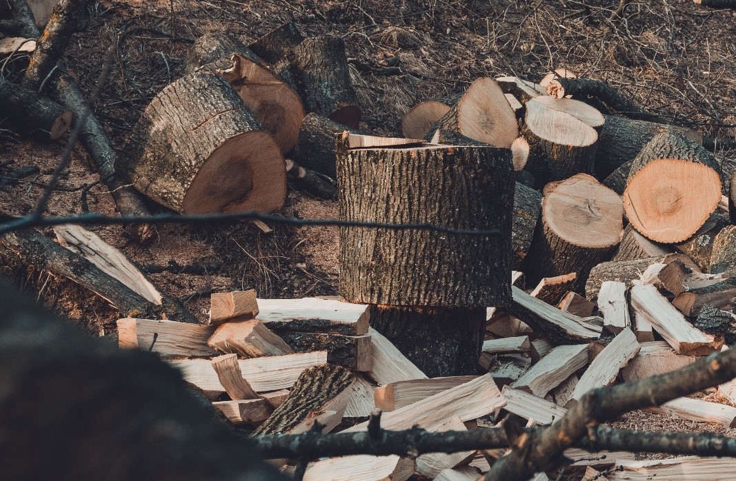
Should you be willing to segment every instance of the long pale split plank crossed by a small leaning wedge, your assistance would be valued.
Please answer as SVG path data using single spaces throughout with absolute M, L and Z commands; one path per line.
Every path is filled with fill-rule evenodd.
M 224 392 L 210 360 L 172 359 L 167 362 L 181 371 L 185 381 L 191 382 L 205 393 Z M 291 388 L 306 368 L 325 363 L 325 351 L 238 360 L 243 377 L 257 393 Z

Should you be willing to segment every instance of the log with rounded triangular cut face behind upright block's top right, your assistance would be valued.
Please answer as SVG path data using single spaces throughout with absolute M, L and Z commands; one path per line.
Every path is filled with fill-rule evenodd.
M 475 80 L 430 132 L 435 130 L 456 132 L 507 149 L 519 136 L 514 110 L 498 83 L 488 77 Z

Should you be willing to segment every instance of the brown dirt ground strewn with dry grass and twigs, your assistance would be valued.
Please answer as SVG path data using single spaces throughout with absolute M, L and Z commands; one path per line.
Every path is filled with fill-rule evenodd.
M 118 49 L 95 113 L 118 149 L 149 101 L 183 74 L 194 38 L 227 32 L 246 42 L 287 21 L 305 35 L 338 35 L 350 59 L 376 70 L 350 73 L 364 121 L 361 129 L 400 135 L 400 120 L 414 104 L 462 91 L 479 76 L 517 75 L 539 80 L 552 68 L 605 80 L 652 113 L 704 134 L 736 137 L 736 13 L 710 10 L 690 0 L 630 1 L 609 20 L 619 0 L 171 0 L 92 2 L 91 18 L 75 35 L 66 60 L 82 90 L 98 81 L 113 38 Z M 15 79 L 26 57 L 4 76 Z M 384 75 L 381 66 L 403 74 Z M 18 140 L 0 113 L 0 163 L 6 169 L 36 165 L 40 173 L 0 189 L 0 212 L 28 213 L 63 152 L 62 143 Z M 735 157 L 736 152 L 719 156 Z M 88 157 L 77 147 L 50 214 L 88 210 L 114 214 L 104 185 L 97 185 Z M 0 177 L 5 171 L 0 170 Z M 163 210 L 162 207 L 155 209 Z M 290 190 L 283 215 L 334 218 L 335 202 Z M 148 246 L 130 243 L 118 227 L 93 227 L 169 295 L 207 318 L 209 295 L 255 288 L 262 297 L 337 293 L 336 229 L 252 224 L 197 229 L 163 226 Z M 52 234 L 47 232 L 49 236 Z M 186 274 L 196 270 L 199 274 Z M 0 270 L 49 307 L 92 332 L 114 332 L 116 312 L 102 299 L 64 279 L 0 252 Z M 648 413 L 631 413 L 617 426 L 662 430 L 732 430 Z

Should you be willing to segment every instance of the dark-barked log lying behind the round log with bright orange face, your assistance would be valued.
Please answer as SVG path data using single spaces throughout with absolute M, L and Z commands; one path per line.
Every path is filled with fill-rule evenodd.
M 631 118 L 604 115 L 606 123 L 598 132 L 598 152 L 595 155 L 595 177 L 605 179 L 624 163 L 634 160 L 640 150 L 662 132 L 676 132 L 697 143 L 703 136 L 685 127 L 676 127 Z

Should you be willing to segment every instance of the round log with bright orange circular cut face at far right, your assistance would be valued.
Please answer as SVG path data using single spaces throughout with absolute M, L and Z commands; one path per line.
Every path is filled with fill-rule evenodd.
M 657 134 L 631 163 L 623 192 L 626 217 L 655 242 L 684 241 L 721 200 L 721 167 L 703 146 L 671 132 Z

